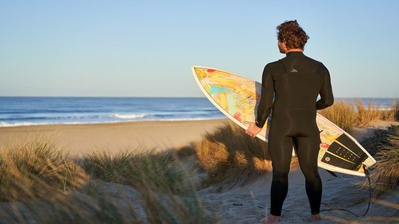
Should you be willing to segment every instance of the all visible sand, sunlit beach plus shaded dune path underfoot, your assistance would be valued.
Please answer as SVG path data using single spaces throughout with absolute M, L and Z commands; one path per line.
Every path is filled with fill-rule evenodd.
M 212 131 L 225 123 L 226 119 L 204 121 L 173 122 L 127 122 L 109 124 L 81 125 L 45 125 L 0 128 L 0 141 L 15 140 L 34 135 L 38 131 L 51 133 L 56 131 L 58 145 L 67 146 L 74 154 L 84 154 L 93 150 L 95 145 L 106 146 L 116 152 L 140 147 L 165 150 L 177 148 L 200 140 L 206 131 Z M 355 128 L 353 135 L 361 140 L 371 134 L 373 128 L 384 128 L 390 123 L 377 122 L 364 128 Z M 396 124 L 396 123 L 395 123 Z M 374 126 L 373 126 L 374 125 Z M 191 160 L 188 167 L 198 164 Z M 327 171 L 319 169 L 323 182 L 322 219 L 317 223 L 399 223 L 399 191 L 385 193 L 373 199 L 365 217 L 342 210 L 346 209 L 362 216 L 368 207 L 369 191 L 360 190 L 355 184 L 363 182 L 365 177 L 338 174 L 333 177 Z M 244 186 L 226 188 L 210 186 L 199 191 L 205 214 L 218 217 L 222 223 L 255 224 L 264 217 L 270 205 L 271 173 Z M 105 183 L 104 191 L 111 194 L 121 204 L 139 200 L 136 190 L 130 186 Z M 82 193 L 70 193 L 74 197 L 88 197 Z M 127 197 L 127 195 L 129 197 Z M 281 223 L 308 223 L 310 208 L 305 192 L 305 179 L 299 165 L 293 165 L 289 173 L 289 191 L 284 202 Z M 145 218 L 144 211 L 138 211 Z

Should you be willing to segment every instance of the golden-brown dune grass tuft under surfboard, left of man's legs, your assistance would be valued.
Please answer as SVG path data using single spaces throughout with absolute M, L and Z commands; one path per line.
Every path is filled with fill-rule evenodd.
M 186 149 L 186 153 L 190 150 Z M 245 130 L 229 121 L 196 142 L 192 152 L 206 171 L 203 186 L 219 183 L 231 186 L 247 184 L 271 171 L 267 144 L 250 137 Z M 292 164 L 298 160 L 293 157 Z

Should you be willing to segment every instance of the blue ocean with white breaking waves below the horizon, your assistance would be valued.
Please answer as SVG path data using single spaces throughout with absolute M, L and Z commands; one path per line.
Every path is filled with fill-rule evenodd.
M 385 109 L 394 99 L 361 100 Z M 0 127 L 220 118 L 225 116 L 206 98 L 0 97 Z

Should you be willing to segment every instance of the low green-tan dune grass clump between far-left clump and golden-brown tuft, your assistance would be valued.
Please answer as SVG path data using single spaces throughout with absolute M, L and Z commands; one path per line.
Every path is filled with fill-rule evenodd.
M 189 187 L 172 152 L 151 153 L 136 149 L 112 155 L 108 149 L 101 148 L 89 153 L 81 165 L 93 178 L 135 188 L 184 194 Z

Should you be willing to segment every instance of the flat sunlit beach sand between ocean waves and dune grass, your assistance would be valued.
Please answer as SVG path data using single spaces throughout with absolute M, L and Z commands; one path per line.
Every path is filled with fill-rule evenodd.
M 56 146 L 66 148 L 73 156 L 85 155 L 96 148 L 105 148 L 111 153 L 121 150 L 162 151 L 200 140 L 206 132 L 227 121 L 228 118 L 0 127 L 0 142 L 23 142 L 38 134 L 53 133 Z

